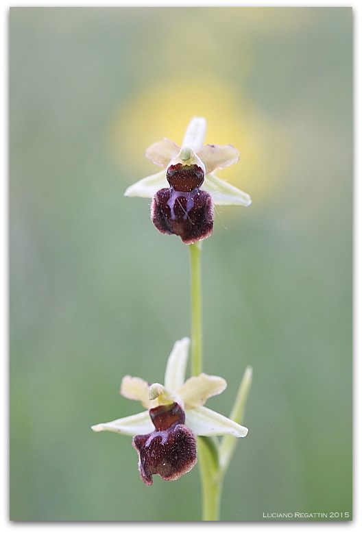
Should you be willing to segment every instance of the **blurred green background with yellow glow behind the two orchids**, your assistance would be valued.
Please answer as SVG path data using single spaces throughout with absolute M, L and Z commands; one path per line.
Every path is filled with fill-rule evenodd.
M 352 9 L 10 9 L 10 519 L 198 521 L 141 482 L 125 374 L 189 335 L 189 258 L 123 197 L 194 114 L 250 193 L 204 241 L 204 371 L 254 382 L 221 519 L 352 512 Z M 350 515 L 351 517 L 351 515 Z

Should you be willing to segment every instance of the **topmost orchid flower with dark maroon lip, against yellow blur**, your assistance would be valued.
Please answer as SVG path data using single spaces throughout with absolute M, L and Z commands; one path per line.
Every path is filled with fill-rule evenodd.
M 249 206 L 250 196 L 215 176 L 216 169 L 236 163 L 232 145 L 204 145 L 206 120 L 193 116 L 182 147 L 163 138 L 147 148 L 145 156 L 163 166 L 156 174 L 128 187 L 125 196 L 152 198 L 151 218 L 162 233 L 176 234 L 185 244 L 213 232 L 213 204 Z

